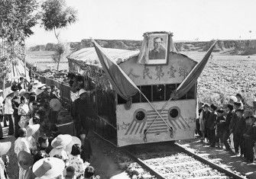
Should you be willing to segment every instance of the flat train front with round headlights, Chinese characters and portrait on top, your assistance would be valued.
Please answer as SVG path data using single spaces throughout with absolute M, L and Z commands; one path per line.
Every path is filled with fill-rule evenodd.
M 117 94 L 118 146 L 194 137 L 196 84 L 182 97 L 170 97 L 196 62 L 176 52 L 172 34 L 144 34 L 139 56 L 119 66 L 141 92 L 129 103 Z

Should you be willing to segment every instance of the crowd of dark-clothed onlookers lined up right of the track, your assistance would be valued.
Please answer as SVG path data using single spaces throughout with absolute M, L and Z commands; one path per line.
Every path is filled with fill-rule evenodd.
M 224 108 L 214 104 L 199 104 L 197 132 L 202 142 L 212 148 L 224 149 L 232 155 L 244 157 L 248 163 L 254 162 L 256 141 L 256 101 L 245 109 L 241 94 L 230 97 Z M 233 139 L 231 140 L 231 134 Z M 231 148 L 234 143 L 234 151 Z

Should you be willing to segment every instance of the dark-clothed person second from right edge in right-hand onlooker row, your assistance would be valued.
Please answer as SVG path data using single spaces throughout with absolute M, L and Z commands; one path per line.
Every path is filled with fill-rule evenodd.
M 238 155 L 239 148 L 240 148 L 240 155 L 245 154 L 245 146 L 243 145 L 243 134 L 245 133 L 245 119 L 243 117 L 244 110 L 238 109 L 235 110 L 237 115 L 237 122 L 235 123 L 235 128 L 233 131 L 234 136 L 234 147 L 235 147 L 235 154 Z

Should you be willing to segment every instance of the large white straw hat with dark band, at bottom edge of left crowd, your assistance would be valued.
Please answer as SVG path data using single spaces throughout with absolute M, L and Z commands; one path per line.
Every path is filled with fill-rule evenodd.
M 50 179 L 63 174 L 65 163 L 60 158 L 42 158 L 32 168 L 33 173 L 41 179 Z

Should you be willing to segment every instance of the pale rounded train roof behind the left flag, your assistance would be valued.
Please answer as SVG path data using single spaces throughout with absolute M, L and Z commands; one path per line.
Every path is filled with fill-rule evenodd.
M 134 51 L 109 48 L 102 49 L 105 50 L 105 53 L 109 55 L 109 57 L 114 59 L 117 64 L 125 62 L 127 59 L 130 59 L 131 57 L 138 56 L 138 54 L 140 53 L 139 50 Z M 94 47 L 83 48 L 81 50 L 78 50 L 70 54 L 70 56 L 67 56 L 67 58 L 76 60 L 77 62 L 83 62 L 83 65 L 102 67 Z

